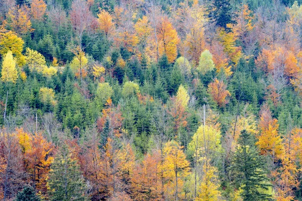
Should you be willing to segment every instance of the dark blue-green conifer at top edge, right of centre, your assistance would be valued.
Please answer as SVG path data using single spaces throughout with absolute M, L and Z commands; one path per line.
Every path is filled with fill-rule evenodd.
M 208 11 L 210 20 L 215 22 L 218 27 L 227 30 L 227 25 L 234 23 L 229 0 L 215 0 Z

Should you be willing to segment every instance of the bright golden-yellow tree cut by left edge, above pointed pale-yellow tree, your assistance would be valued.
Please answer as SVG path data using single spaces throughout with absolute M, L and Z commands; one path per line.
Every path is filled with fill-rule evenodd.
M 23 66 L 26 61 L 22 55 L 24 41 L 12 31 L 0 32 L 0 54 L 5 56 L 8 51 L 12 51 L 17 59 L 17 64 Z

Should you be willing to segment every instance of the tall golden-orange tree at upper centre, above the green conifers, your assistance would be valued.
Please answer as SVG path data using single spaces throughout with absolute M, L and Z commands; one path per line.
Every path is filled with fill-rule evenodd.
M 177 31 L 173 28 L 168 17 L 162 18 L 156 29 L 159 54 L 160 56 L 166 54 L 168 61 L 172 63 L 177 57 L 177 45 L 179 43 Z

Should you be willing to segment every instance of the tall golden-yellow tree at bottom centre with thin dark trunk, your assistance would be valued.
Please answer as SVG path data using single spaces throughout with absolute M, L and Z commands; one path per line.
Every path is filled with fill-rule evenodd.
M 164 162 L 162 165 L 163 176 L 166 180 L 164 185 L 167 199 L 179 200 L 183 198 L 181 190 L 184 185 L 184 178 L 189 174 L 189 162 L 186 160 L 182 147 L 176 141 L 169 141 L 165 144 Z

